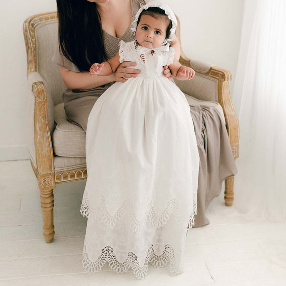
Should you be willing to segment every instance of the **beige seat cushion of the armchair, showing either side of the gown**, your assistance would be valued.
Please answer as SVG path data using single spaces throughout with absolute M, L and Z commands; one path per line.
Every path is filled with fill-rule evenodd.
M 224 120 L 223 110 L 217 102 L 198 100 L 187 94 L 185 96 L 189 105 L 206 105 L 216 108 Z M 57 104 L 54 108 L 56 122 L 52 136 L 54 154 L 61 157 L 85 157 L 84 130 L 67 120 L 64 103 Z M 74 165 L 78 164 L 85 164 L 85 162 L 76 162 Z M 64 166 L 58 167 L 63 168 Z

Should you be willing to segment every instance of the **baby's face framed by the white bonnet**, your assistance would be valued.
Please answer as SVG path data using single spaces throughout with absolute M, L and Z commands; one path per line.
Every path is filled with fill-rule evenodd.
M 136 30 L 136 40 L 145 48 L 158 48 L 166 38 L 167 26 L 163 17 L 142 15 Z

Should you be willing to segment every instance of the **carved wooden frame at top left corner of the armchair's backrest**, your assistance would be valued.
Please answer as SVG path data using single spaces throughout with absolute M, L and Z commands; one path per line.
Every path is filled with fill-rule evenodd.
M 57 12 L 41 13 L 30 16 L 23 23 L 23 34 L 27 53 L 27 74 L 37 71 L 35 28 L 46 21 L 58 19 Z

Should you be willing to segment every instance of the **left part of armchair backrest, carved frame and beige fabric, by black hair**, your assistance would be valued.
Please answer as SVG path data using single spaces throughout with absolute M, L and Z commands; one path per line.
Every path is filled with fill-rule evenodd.
M 54 105 L 62 102 L 66 89 L 59 66 L 51 60 L 58 45 L 58 16 L 56 12 L 33 15 L 23 25 L 27 51 L 27 74 L 38 72 L 44 79 Z

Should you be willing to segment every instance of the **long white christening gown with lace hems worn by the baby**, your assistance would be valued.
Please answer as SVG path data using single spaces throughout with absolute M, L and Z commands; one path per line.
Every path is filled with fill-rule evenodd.
M 188 102 L 162 75 L 174 48 L 121 41 L 119 55 L 141 73 L 107 89 L 88 118 L 83 266 L 93 273 L 109 262 L 142 279 L 149 262 L 170 263 L 178 274 L 197 208 L 199 155 Z

